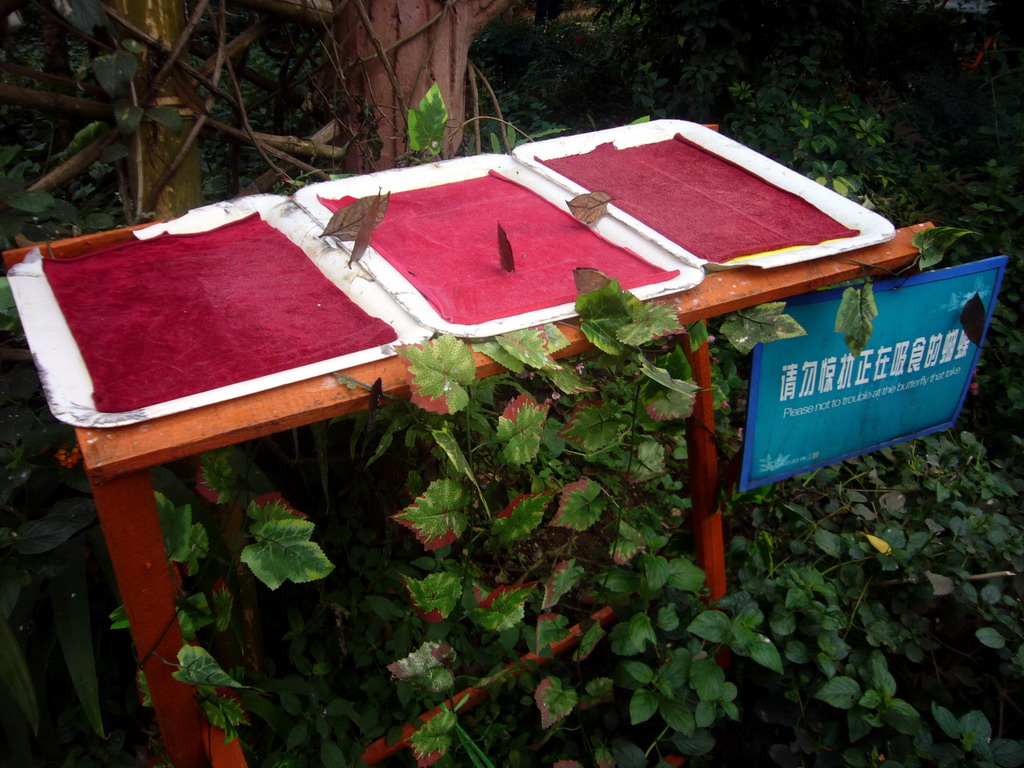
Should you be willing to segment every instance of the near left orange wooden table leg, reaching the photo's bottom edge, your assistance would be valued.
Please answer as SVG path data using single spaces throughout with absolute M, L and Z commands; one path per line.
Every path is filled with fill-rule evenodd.
M 223 732 L 210 727 L 193 686 L 171 677 L 182 645 L 174 606 L 177 585 L 164 552 L 148 471 L 93 483 L 92 493 L 171 761 L 177 768 L 244 766 L 238 741 L 223 745 Z

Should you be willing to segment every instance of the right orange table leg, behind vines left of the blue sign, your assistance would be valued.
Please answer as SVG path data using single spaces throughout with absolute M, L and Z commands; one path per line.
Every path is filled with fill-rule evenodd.
M 718 509 L 718 445 L 715 442 L 715 406 L 711 394 L 711 352 L 705 342 L 695 351 L 683 342 L 693 381 L 700 391 L 686 423 L 686 456 L 690 470 L 690 520 L 697 564 L 708 574 L 711 602 L 725 594 L 725 544 L 722 513 Z

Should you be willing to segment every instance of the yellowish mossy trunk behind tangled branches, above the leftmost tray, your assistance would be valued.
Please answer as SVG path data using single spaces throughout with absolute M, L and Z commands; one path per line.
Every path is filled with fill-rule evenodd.
M 112 0 L 111 5 L 133 26 L 167 48 L 173 47 L 185 26 L 182 0 L 146 0 L 146 2 Z M 152 52 L 146 49 L 144 42 L 140 41 L 140 44 L 145 52 L 141 56 L 139 72 L 152 73 L 155 69 Z M 136 94 L 141 98 L 146 92 L 146 79 L 139 78 L 136 81 Z M 166 88 L 158 93 L 157 102 L 179 108 L 179 113 L 183 113 L 184 126 L 181 131 L 175 133 L 159 123 L 143 120 L 131 137 L 131 157 L 128 163 L 132 208 L 139 215 L 145 216 L 151 212 L 142 210 L 143 206 L 148 207 L 152 201 L 153 216 L 157 219 L 166 219 L 201 205 L 203 191 L 200 181 L 199 147 L 195 142 L 163 187 L 157 188 L 158 180 L 174 163 L 184 145 L 185 137 L 188 136 L 195 120 L 195 116 L 180 109 L 180 99 L 172 88 Z M 142 108 L 151 105 L 139 104 Z

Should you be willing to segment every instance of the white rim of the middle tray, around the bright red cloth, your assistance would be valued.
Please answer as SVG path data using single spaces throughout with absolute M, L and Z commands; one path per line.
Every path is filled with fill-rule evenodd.
M 577 194 L 570 191 L 561 181 L 545 177 L 507 155 L 477 155 L 413 168 L 399 168 L 365 176 L 353 176 L 336 181 L 323 181 L 299 189 L 295 194 L 295 201 L 307 210 L 310 216 L 321 222 L 319 231 L 323 231 L 330 221 L 332 213 L 319 202 L 318 198 L 321 197 L 337 200 L 345 196 L 362 198 L 381 191 L 398 193 L 480 178 L 493 170 L 529 187 L 564 211 L 568 211 L 568 207 L 565 205 L 566 201 L 571 200 Z M 685 291 L 693 288 L 703 279 L 697 260 L 688 254 L 668 251 L 650 237 L 649 230 L 646 232 L 637 231 L 634 225 L 611 216 L 602 217 L 594 228 L 606 240 L 628 248 L 662 269 L 679 270 L 679 275 L 671 281 L 631 289 L 631 293 L 640 299 L 653 299 Z M 351 244 L 342 244 L 334 238 L 324 238 L 324 241 L 331 242 L 331 247 L 337 249 L 336 253 L 339 254 L 339 258 L 348 259 Z M 482 338 L 564 319 L 575 314 L 574 305 L 569 302 L 474 325 L 450 323 L 442 318 L 426 297 L 404 275 L 391 266 L 387 259 L 377 253 L 372 245 L 359 260 L 359 264 L 369 275 L 379 281 L 381 286 L 394 296 L 398 303 L 420 324 L 440 333 Z

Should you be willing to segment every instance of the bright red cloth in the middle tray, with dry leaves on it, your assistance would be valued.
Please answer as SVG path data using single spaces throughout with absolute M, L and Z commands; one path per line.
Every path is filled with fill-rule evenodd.
M 352 201 L 321 202 L 337 211 Z M 508 236 L 515 271 L 501 266 L 498 223 Z M 575 300 L 572 270 L 600 269 L 623 288 L 671 280 L 536 193 L 492 173 L 393 193 L 374 230 L 373 248 L 449 323 L 473 325 Z

